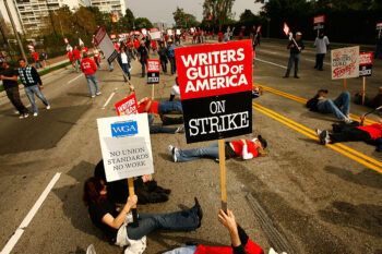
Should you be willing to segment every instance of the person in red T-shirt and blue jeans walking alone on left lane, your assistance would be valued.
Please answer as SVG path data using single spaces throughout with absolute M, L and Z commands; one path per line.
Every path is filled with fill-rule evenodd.
M 80 66 L 81 71 L 85 74 L 91 97 L 94 98 L 96 95 L 100 95 L 98 81 L 95 75 L 97 72 L 97 64 L 87 56 L 86 52 L 83 53 L 83 59 L 81 60 Z

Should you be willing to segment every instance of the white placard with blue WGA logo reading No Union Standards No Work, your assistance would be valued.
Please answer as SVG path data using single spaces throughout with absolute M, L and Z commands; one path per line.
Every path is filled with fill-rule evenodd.
M 108 182 L 154 173 L 146 113 L 97 119 Z

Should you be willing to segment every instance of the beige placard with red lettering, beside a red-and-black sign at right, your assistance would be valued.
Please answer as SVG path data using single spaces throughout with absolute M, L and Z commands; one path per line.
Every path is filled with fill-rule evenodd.
M 332 80 L 359 76 L 359 46 L 334 49 L 331 57 Z

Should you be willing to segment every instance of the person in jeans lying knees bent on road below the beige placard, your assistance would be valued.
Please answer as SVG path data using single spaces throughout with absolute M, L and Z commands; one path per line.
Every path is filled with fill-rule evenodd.
M 332 100 L 327 98 L 327 89 L 319 89 L 317 95 L 307 101 L 307 108 L 310 111 L 319 113 L 333 113 L 337 119 L 345 123 L 351 123 L 350 112 L 350 94 L 343 92 L 339 96 Z

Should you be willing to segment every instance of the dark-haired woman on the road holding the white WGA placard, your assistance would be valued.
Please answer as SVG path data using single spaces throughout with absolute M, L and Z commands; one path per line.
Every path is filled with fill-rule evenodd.
M 140 214 L 139 226 L 133 227 L 131 208 L 136 205 L 138 197 L 129 197 L 120 211 L 107 198 L 105 182 L 89 178 L 84 184 L 83 201 L 87 206 L 92 222 L 99 228 L 111 243 L 128 245 L 131 253 L 143 253 L 145 235 L 155 230 L 192 231 L 202 222 L 202 208 L 195 198 L 195 205 L 187 210 L 169 214 Z

